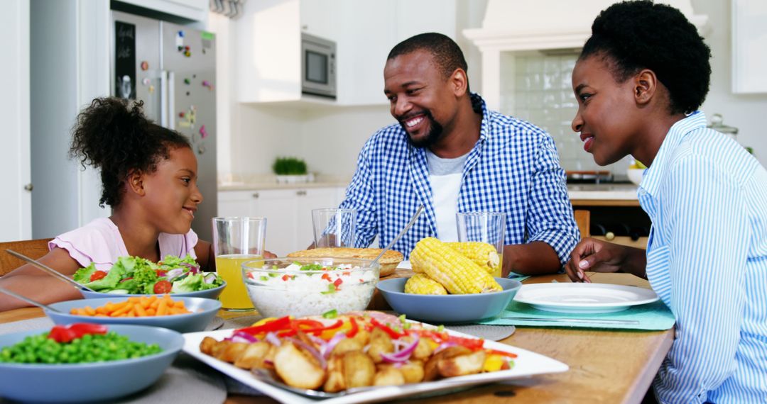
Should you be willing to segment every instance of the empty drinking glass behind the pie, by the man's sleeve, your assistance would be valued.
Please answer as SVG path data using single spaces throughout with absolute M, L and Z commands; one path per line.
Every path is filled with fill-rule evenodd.
M 354 247 L 354 223 L 357 210 L 313 209 L 311 223 L 314 226 L 314 246 Z

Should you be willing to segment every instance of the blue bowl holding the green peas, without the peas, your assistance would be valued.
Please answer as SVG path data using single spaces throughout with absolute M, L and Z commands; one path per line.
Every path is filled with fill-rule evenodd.
M 0 347 L 47 330 L 0 335 Z M 165 328 L 110 325 L 130 340 L 157 344 L 162 352 L 136 359 L 100 363 L 0 363 L 0 392 L 6 399 L 34 402 L 110 400 L 135 393 L 160 379 L 184 345 L 184 337 Z

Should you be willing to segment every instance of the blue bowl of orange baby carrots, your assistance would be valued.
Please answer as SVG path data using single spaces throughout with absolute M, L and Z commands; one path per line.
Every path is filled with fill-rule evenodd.
M 59 301 L 45 314 L 55 324 L 135 324 L 185 332 L 203 331 L 216 317 L 221 302 L 209 298 L 148 295 Z M 54 311 L 56 310 L 56 311 Z

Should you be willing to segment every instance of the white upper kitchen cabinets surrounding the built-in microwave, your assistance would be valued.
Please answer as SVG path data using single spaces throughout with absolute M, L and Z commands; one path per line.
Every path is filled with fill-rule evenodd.
M 382 71 L 391 48 L 421 32 L 455 38 L 456 0 L 247 2 L 235 24 L 239 102 L 300 107 L 386 104 Z M 336 42 L 336 100 L 301 94 L 302 31 Z

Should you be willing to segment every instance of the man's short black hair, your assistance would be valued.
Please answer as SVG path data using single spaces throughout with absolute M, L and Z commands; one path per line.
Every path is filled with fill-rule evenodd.
M 469 66 L 466 65 L 466 58 L 463 57 L 463 51 L 458 44 L 447 35 L 436 32 L 426 32 L 407 38 L 392 48 L 387 60 L 420 50 L 429 51 L 432 54 L 434 62 L 442 70 L 445 78 L 450 77 L 458 68 L 465 72 L 469 70 Z

